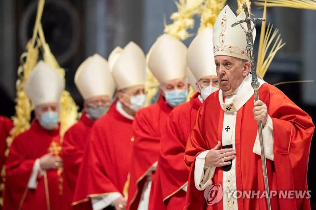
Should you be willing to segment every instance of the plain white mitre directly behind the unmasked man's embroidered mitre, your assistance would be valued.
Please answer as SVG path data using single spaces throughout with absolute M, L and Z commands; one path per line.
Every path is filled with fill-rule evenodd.
M 212 36 L 213 30 L 205 28 L 188 48 L 186 62 L 197 81 L 205 76 L 217 76 Z

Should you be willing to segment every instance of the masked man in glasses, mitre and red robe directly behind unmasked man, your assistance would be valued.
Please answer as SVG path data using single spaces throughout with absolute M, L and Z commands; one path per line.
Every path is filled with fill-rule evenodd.
M 167 209 L 183 209 L 189 177 L 184 159 L 186 141 L 204 100 L 218 90 L 214 63 L 213 30 L 205 28 L 191 42 L 186 62 L 196 82 L 197 93 L 189 102 L 175 107 L 161 133 L 158 168 L 161 192 Z M 185 187 L 185 188 L 184 188 Z

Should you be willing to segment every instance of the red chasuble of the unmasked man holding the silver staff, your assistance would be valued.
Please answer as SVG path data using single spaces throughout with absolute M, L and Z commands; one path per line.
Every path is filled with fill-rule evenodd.
M 266 197 L 261 197 L 264 191 L 261 156 L 253 152 L 258 127 L 252 112 L 254 95 L 250 82 L 248 86 L 246 92 L 236 96 L 241 97 L 241 100 L 232 104 L 237 110 L 237 114 L 233 115 L 235 123 L 234 119 L 225 119 L 227 115 L 232 115 L 226 114 L 232 107 L 223 106 L 220 102 L 223 98 L 221 91 L 210 95 L 198 111 L 185 151 L 185 162 L 190 168 L 185 209 L 201 209 L 201 203 L 204 204 L 202 209 L 212 210 L 267 209 Z M 259 88 L 259 97 L 267 105 L 268 115 L 273 122 L 274 161 L 266 159 L 269 190 L 276 190 L 278 193 L 281 190 L 307 190 L 308 156 L 314 131 L 311 117 L 280 90 L 267 83 Z M 223 186 L 224 196 L 217 203 L 213 203 L 214 205 L 207 205 L 204 190 L 198 191 L 194 184 L 196 157 L 201 152 L 214 148 L 218 141 L 223 145 L 225 132 L 232 132 L 231 130 L 235 130 L 229 140 L 233 142 L 236 157 L 230 165 L 230 170 L 216 167 L 212 178 L 213 184 Z M 227 199 L 227 190 L 231 188 L 246 192 L 260 190 L 261 194 L 253 198 L 235 199 L 232 196 L 231 200 Z M 307 195 L 302 199 L 284 199 L 284 195 L 280 198 L 279 196 L 271 198 L 271 209 L 310 209 Z

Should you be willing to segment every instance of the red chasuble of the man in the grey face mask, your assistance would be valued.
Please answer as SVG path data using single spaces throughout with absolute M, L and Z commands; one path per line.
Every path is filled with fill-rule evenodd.
M 63 209 L 72 209 L 79 166 L 87 143 L 89 131 L 94 121 L 82 114 L 80 120 L 64 135 L 62 158 L 64 163 L 63 179 Z

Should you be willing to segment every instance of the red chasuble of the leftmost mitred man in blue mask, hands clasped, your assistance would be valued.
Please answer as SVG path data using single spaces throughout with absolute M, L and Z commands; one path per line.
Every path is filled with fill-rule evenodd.
M 52 145 L 54 148 L 51 148 Z M 43 176 L 38 174 L 37 188 L 27 187 L 35 160 L 53 150 L 61 150 L 59 128 L 47 131 L 36 120 L 32 122 L 29 130 L 14 139 L 6 161 L 3 209 L 61 209 L 58 170 L 44 171 Z

